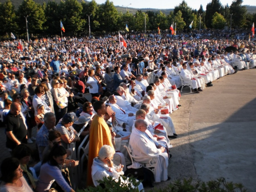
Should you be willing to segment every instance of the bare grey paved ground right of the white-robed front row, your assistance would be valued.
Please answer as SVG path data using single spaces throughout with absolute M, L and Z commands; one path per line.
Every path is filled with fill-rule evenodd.
M 171 115 L 179 138 L 171 141 L 169 175 L 224 177 L 256 191 L 256 69 L 213 83 L 200 94 L 183 91 L 182 107 Z

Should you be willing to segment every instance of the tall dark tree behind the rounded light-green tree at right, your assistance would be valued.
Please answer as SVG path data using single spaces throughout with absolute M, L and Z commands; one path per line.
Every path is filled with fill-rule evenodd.
M 215 12 L 221 13 L 223 6 L 220 3 L 220 0 L 211 0 L 210 3 L 206 5 L 206 12 L 205 12 L 205 25 L 208 28 L 211 28 L 211 20 L 214 16 Z

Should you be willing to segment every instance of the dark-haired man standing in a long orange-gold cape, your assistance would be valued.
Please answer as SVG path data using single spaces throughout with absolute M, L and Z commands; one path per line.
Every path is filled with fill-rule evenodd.
M 93 186 L 92 164 L 93 159 L 98 156 L 100 148 L 103 145 L 110 145 L 114 148 L 111 141 L 109 126 L 104 120 L 104 115 L 106 113 L 105 103 L 103 101 L 96 101 L 93 104 L 93 109 L 97 114 L 94 116 L 90 128 L 87 186 Z

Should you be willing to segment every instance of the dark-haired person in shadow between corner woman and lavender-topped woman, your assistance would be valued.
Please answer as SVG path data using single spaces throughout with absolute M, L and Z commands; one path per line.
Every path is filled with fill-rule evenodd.
M 32 153 L 33 151 L 28 145 L 20 144 L 15 147 L 12 156 L 19 160 L 20 168 L 23 170 L 23 177 L 31 188 L 35 189 L 37 180 L 33 177 L 33 173 L 28 166 Z

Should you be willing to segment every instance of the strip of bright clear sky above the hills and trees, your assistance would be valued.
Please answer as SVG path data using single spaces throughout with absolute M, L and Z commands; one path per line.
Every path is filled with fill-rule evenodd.
M 90 1 L 90 0 L 88 0 Z M 105 0 L 95 0 L 98 4 L 102 4 Z M 111 0 L 110 0 L 111 1 Z M 112 0 L 115 6 L 124 6 L 131 8 L 154 8 L 154 9 L 173 9 L 175 6 L 178 6 L 182 0 L 170 1 L 170 0 Z M 206 5 L 211 2 L 211 0 L 186 0 L 187 5 L 193 9 L 199 9 L 200 5 L 203 5 L 204 10 L 206 10 Z M 221 0 L 222 5 L 228 4 L 229 6 L 232 3 L 232 0 Z M 256 6 L 255 0 L 244 0 L 243 5 Z

